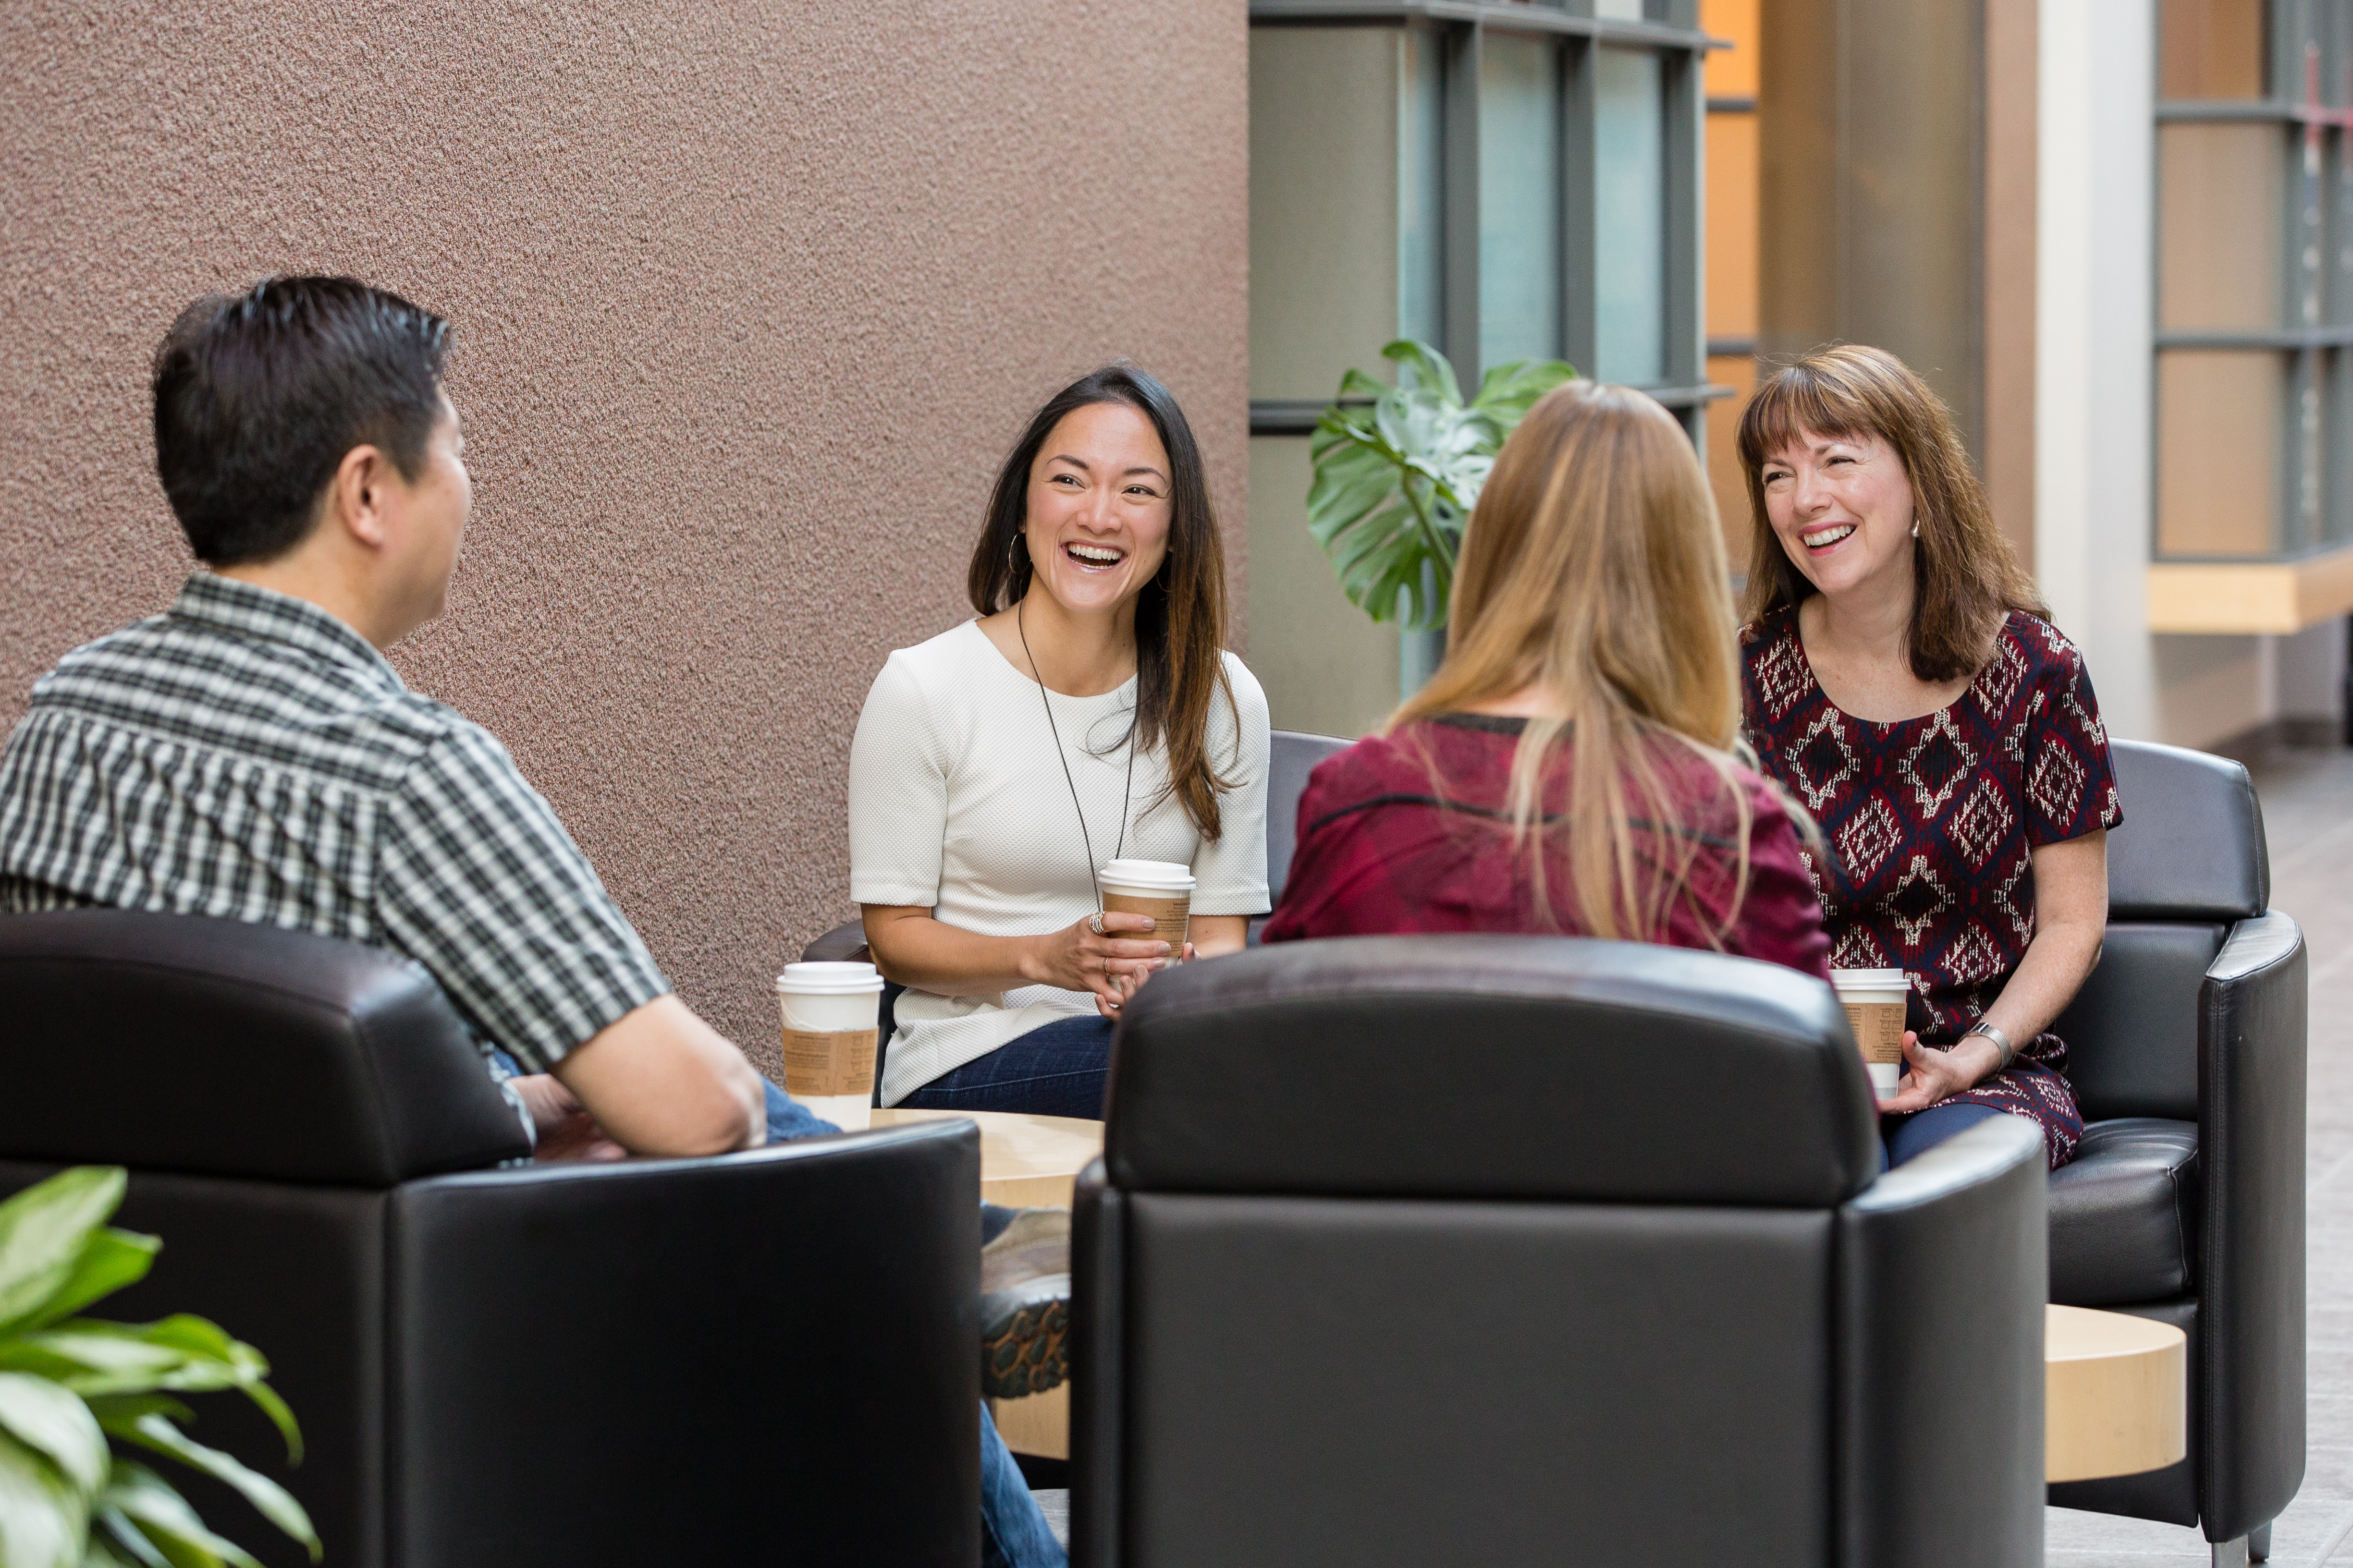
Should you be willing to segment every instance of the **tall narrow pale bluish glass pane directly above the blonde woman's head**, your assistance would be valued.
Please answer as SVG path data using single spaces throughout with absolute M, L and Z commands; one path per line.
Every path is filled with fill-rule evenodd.
M 1664 61 L 1598 49 L 1593 71 L 1593 376 L 1666 378 Z

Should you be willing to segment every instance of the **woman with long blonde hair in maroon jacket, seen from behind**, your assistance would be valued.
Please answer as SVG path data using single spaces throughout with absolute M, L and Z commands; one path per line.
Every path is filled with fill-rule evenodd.
M 1266 940 L 1584 933 L 1828 973 L 1798 830 L 1734 757 L 1725 576 L 1675 418 L 1548 393 L 1464 531 L 1438 675 L 1308 780 Z

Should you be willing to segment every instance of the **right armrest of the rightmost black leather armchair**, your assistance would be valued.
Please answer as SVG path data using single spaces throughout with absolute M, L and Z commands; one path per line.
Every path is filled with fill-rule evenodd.
M 2304 931 L 2231 926 L 2198 1001 L 2198 1281 L 2207 1540 L 2275 1519 L 2304 1483 Z

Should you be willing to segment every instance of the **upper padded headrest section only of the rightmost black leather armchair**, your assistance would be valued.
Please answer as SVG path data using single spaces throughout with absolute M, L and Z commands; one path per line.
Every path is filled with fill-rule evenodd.
M 2247 769 L 2179 745 L 2115 741 L 2125 823 L 2108 835 L 2108 919 L 2252 919 L 2271 907 L 2264 806 Z

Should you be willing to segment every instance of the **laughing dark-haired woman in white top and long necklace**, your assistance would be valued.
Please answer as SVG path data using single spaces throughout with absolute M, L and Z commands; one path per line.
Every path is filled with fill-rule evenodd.
M 885 1105 L 1101 1117 L 1120 1004 L 1176 954 L 1104 914 L 1115 858 L 1193 867 L 1186 957 L 1266 912 L 1266 693 L 1224 651 L 1200 449 L 1099 369 L 998 473 L 976 621 L 882 665 L 849 748 L 849 884 L 899 997 Z M 1136 933 L 1146 936 L 1136 936 Z

